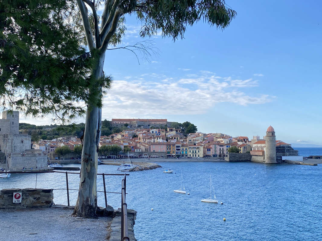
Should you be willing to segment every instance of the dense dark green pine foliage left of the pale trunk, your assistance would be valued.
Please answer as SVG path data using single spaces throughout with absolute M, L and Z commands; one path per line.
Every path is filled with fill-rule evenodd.
M 0 12 L 4 108 L 32 116 L 54 114 L 62 122 L 85 113 L 85 105 L 78 103 L 91 101 L 95 53 L 79 45 L 77 31 L 66 22 L 69 7 L 65 0 L 0 1 L 0 9 L 9 10 Z M 109 77 L 95 82 L 102 88 L 109 83 Z

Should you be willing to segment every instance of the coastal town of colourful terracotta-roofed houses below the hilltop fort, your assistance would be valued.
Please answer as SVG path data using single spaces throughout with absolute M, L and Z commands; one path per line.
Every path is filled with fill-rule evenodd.
M 109 136 L 100 136 L 100 155 L 119 158 L 129 152 L 131 157 L 224 159 L 228 157 L 229 152 L 232 152 L 231 150 L 234 150 L 230 149 L 231 147 L 235 147 L 233 152 L 250 153 L 254 156 L 263 156 L 266 149 L 266 136 L 263 138 L 253 136 L 249 140 L 246 136 L 232 137 L 224 133 L 196 131 L 184 135 L 184 128 L 168 127 L 175 126 L 176 123 L 169 122 L 167 119 L 112 119 L 113 128 L 125 128 Z M 76 146 L 81 146 L 81 141 L 77 136 L 62 136 L 52 140 L 41 139 L 33 142 L 33 148 L 43 150 L 50 159 L 57 159 L 62 156 L 55 153 L 56 148 L 65 146 L 73 151 Z M 111 146 L 118 146 L 119 151 L 115 153 L 108 148 Z M 279 152 L 283 152 L 284 156 L 298 156 L 297 151 L 290 144 L 281 140 L 276 140 L 276 147 L 279 148 Z M 284 154 L 291 152 L 292 155 Z M 75 153 L 70 154 L 72 155 Z M 281 161 L 280 159 L 279 162 Z

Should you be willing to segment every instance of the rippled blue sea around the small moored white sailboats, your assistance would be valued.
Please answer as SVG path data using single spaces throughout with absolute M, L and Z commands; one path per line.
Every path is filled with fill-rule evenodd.
M 322 148 L 298 150 L 299 155 L 322 155 Z M 126 201 L 129 209 L 137 211 L 138 241 L 322 240 L 322 165 L 205 160 L 158 164 L 162 168 L 127 176 Z M 98 166 L 99 173 L 118 173 L 116 169 Z M 174 173 L 163 173 L 165 169 Z M 210 197 L 210 176 L 218 204 L 201 202 Z M 120 192 L 121 178 L 106 176 L 107 191 Z M 68 179 L 69 188 L 78 189 L 79 175 L 69 174 Z M 65 180 L 65 174 L 58 173 L 12 174 L 0 180 L 0 189 L 59 189 L 66 188 Z M 181 180 L 190 195 L 173 192 L 181 187 Z M 103 191 L 101 176 L 97 183 L 98 191 Z M 70 191 L 71 205 L 77 193 Z M 108 193 L 107 201 L 117 209 L 121 196 Z M 54 202 L 67 205 L 66 190 L 54 190 Z M 98 192 L 98 205 L 105 206 L 102 192 Z

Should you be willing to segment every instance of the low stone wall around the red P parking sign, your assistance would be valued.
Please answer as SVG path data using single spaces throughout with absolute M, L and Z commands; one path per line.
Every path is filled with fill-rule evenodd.
M 13 203 L 14 192 L 21 192 L 21 203 Z M 2 189 L 0 190 L 0 209 L 49 208 L 53 200 L 52 189 Z

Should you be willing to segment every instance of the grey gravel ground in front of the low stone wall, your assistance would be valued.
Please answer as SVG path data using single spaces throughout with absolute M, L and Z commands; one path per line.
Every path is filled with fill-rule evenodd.
M 71 217 L 72 209 L 43 208 L 0 210 L 2 239 L 24 241 L 107 240 L 112 218 Z

